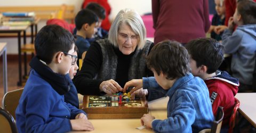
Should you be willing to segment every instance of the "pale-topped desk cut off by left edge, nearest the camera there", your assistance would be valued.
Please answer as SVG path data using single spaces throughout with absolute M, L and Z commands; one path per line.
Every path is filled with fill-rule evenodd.
M 4 94 L 8 92 L 7 87 L 7 59 L 6 59 L 6 43 L 0 43 L 0 55 L 3 56 L 3 84 Z

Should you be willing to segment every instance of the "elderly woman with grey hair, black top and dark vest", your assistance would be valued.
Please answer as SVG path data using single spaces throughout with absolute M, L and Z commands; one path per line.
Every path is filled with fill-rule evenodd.
M 131 79 L 153 76 L 146 66 L 151 47 L 140 15 L 129 9 L 119 11 L 108 38 L 96 40 L 87 51 L 82 69 L 74 78 L 77 92 L 114 94 L 122 92 Z

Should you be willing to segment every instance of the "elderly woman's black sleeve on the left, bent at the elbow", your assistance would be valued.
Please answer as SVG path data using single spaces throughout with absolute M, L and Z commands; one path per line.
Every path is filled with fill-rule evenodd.
M 82 69 L 74 77 L 73 82 L 77 92 L 82 95 L 99 95 L 99 86 L 102 80 L 93 79 L 100 69 L 102 63 L 101 47 L 93 43 L 85 56 Z

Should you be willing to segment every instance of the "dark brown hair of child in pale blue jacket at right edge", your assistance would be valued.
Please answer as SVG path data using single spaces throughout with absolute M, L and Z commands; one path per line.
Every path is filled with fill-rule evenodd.
M 254 1 L 238 1 L 237 12 L 241 14 L 243 24 L 256 24 L 256 3 Z

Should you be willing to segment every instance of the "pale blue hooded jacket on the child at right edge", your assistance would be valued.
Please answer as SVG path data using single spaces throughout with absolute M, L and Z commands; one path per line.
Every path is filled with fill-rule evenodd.
M 256 24 L 238 26 L 233 32 L 226 29 L 222 35 L 225 53 L 232 54 L 233 76 L 246 85 L 252 85 L 256 58 Z

